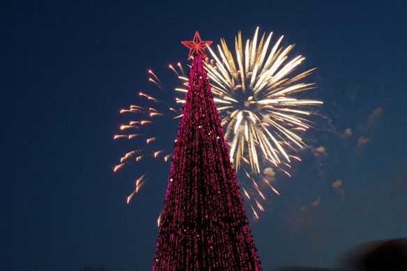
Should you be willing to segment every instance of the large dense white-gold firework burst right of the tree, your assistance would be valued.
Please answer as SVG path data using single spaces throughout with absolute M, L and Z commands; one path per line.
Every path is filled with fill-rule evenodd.
M 272 45 L 272 33 L 259 42 L 258 34 L 259 28 L 243 47 L 239 32 L 234 55 L 222 39 L 217 53 L 208 48 L 213 60 L 206 65 L 214 96 L 223 103 L 218 110 L 236 170 L 248 161 L 256 173 L 268 162 L 280 167 L 298 159 L 290 153 L 305 146 L 299 133 L 309 129 L 312 114 L 303 108 L 322 104 L 297 98 L 314 88 L 298 82 L 314 69 L 294 73 L 305 57 L 289 56 L 294 45 L 280 46 L 283 36 Z

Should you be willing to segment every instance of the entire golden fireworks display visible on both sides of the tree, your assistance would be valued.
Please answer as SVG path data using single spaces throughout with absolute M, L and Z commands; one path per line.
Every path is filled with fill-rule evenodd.
M 256 210 L 264 210 L 260 201 L 266 199 L 265 195 L 269 192 L 279 194 L 272 184 L 272 178 L 264 174 L 264 170 L 272 167 L 290 176 L 292 160 L 300 160 L 296 153 L 306 146 L 302 134 L 312 125 L 309 118 L 314 112 L 310 108 L 322 104 L 318 100 L 299 98 L 300 93 L 315 87 L 312 83 L 302 82 L 314 69 L 296 72 L 305 57 L 291 56 L 294 45 L 283 46 L 282 40 L 283 36 L 272 42 L 272 33 L 267 37 L 263 33 L 259 38 L 257 28 L 253 39 L 247 40 L 244 46 L 242 35 L 238 33 L 233 53 L 224 39 L 221 39 L 216 49 L 208 47 L 210 60 L 206 61 L 206 71 L 211 91 L 225 130 L 231 160 L 240 176 L 242 193 L 249 200 L 254 217 L 258 217 Z M 183 84 L 175 91 L 185 95 L 187 75 L 183 65 L 169 65 L 169 69 Z M 173 100 L 174 104 L 162 102 L 164 99 L 158 98 L 164 94 L 164 85 L 153 71 L 148 70 L 148 73 L 151 75 L 148 81 L 160 88 L 160 94 L 153 97 L 144 92 L 139 93 L 140 98 L 152 104 L 151 107 L 132 105 L 121 110 L 121 114 L 135 114 L 137 120 L 122 125 L 123 134 L 114 137 L 144 137 L 144 145 L 148 148 L 126 153 L 114 171 L 131 160 L 161 157 L 167 162 L 171 157 L 172 144 L 162 142 L 162 136 L 168 134 L 168 131 L 153 130 L 151 127 L 174 126 L 174 139 L 178 118 L 181 117 L 181 105 L 185 100 L 176 98 L 170 92 L 166 94 L 171 98 L 165 100 Z M 169 138 L 165 140 L 169 141 Z M 144 179 L 145 176 L 139 182 L 144 183 Z M 136 181 L 135 192 L 139 191 L 137 187 Z

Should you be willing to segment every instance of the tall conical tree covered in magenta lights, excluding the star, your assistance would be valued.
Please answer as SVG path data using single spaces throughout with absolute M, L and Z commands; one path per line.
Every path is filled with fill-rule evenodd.
M 201 56 L 190 69 L 153 270 L 261 270 Z

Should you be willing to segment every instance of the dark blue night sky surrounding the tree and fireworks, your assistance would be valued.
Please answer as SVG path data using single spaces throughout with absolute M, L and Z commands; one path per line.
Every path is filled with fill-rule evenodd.
M 174 81 L 180 44 L 284 35 L 324 101 L 292 177 L 259 220 L 263 269 L 335 267 L 407 235 L 406 4 L 402 1 L 8 1 L 1 21 L 0 270 L 151 270 L 169 164 L 112 169 L 118 110 Z M 137 146 L 136 146 L 137 147 Z M 133 180 L 152 170 L 127 205 Z

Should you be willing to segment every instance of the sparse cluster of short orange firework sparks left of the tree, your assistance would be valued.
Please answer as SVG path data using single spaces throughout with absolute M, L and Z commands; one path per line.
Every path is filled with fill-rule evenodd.
M 148 74 L 151 75 L 148 78 L 148 82 L 158 86 L 159 92 L 153 95 L 151 93 L 154 89 L 148 92 L 141 91 L 138 95 L 139 104 L 145 104 L 144 106 L 131 104 L 130 107 L 121 109 L 120 114 L 128 116 L 129 121 L 127 124 L 121 125 L 119 127 L 121 133 L 115 134 L 113 137 L 114 139 L 136 139 L 137 142 L 135 144 L 144 146 L 144 148 L 125 153 L 120 158 L 120 163 L 114 167 L 114 172 L 123 169 L 132 162 L 141 162 L 146 158 L 162 160 L 164 162 L 168 162 L 171 158 L 171 144 L 168 144 L 168 142 L 171 142 L 171 139 L 169 140 L 171 134 L 168 134 L 168 131 L 164 130 L 163 127 L 166 127 L 165 125 L 168 123 L 174 123 L 174 130 L 176 131 L 176 123 L 178 121 L 174 120 L 181 116 L 181 109 L 177 107 L 172 91 L 168 94 L 174 100 L 175 105 L 170 106 L 166 102 L 162 102 L 161 98 L 165 93 L 164 84 L 162 84 L 160 78 L 153 70 L 148 70 Z M 176 137 L 175 133 L 174 137 Z M 147 175 L 144 173 L 135 181 L 135 190 L 128 196 L 127 203 L 130 203 L 133 196 L 146 183 L 146 180 Z

